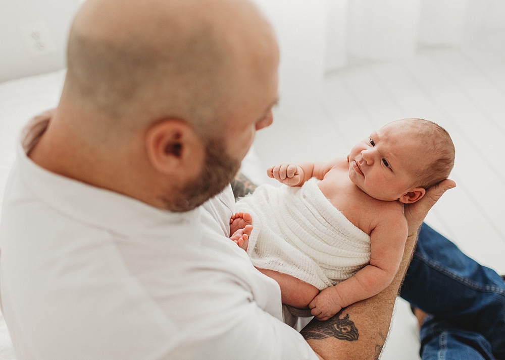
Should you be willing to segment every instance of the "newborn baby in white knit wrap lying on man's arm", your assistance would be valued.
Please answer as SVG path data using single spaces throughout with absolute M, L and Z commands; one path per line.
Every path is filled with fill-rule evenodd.
M 279 283 L 284 304 L 327 320 L 389 285 L 407 239 L 403 204 L 446 179 L 454 156 L 444 129 L 410 118 L 346 158 L 276 165 L 267 173 L 287 187 L 262 185 L 239 200 L 231 239 Z

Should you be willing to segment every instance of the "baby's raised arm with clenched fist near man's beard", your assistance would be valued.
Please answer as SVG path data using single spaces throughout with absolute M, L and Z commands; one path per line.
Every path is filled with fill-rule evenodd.
M 297 165 L 284 162 L 279 165 L 269 167 L 267 175 L 289 186 L 301 186 L 311 177 L 322 180 L 324 175 L 330 171 L 339 159 L 328 162 L 301 162 Z

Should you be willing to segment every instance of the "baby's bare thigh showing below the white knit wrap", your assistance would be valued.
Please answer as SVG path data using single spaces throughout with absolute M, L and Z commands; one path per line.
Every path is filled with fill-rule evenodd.
M 314 285 L 301 281 L 294 276 L 282 274 L 274 270 L 258 269 L 279 283 L 282 303 L 294 308 L 304 309 L 316 297 L 319 290 Z

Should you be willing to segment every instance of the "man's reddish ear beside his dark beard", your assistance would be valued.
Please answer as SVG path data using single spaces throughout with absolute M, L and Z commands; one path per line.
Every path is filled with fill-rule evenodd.
M 198 173 L 204 148 L 186 122 L 163 119 L 147 129 L 145 146 L 150 163 L 164 174 L 183 171 L 183 176 Z M 194 172 L 194 174 L 193 174 Z

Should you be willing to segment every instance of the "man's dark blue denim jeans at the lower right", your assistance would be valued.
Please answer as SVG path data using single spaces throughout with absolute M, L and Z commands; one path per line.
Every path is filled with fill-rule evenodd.
M 505 282 L 426 224 L 401 297 L 430 314 L 423 360 L 505 359 Z

